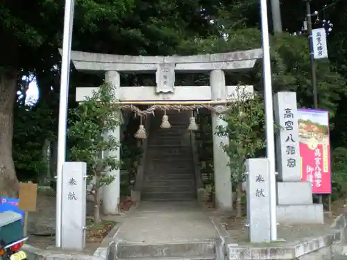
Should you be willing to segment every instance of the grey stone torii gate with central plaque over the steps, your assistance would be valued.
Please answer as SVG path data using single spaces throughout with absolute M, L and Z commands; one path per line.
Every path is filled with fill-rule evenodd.
M 190 56 L 128 56 L 72 51 L 71 60 L 78 71 L 105 73 L 105 81 L 116 88 L 119 101 L 226 101 L 235 96 L 237 86 L 226 86 L 224 71 L 252 69 L 262 49 Z M 210 86 L 175 86 L 175 73 L 210 71 Z M 121 87 L 119 73 L 155 73 L 154 87 Z M 246 86 L 253 92 L 253 86 Z M 83 102 L 91 96 L 95 87 L 78 87 L 76 101 Z M 216 205 L 220 209 L 232 209 L 232 184 L 228 156 L 221 148 L 228 144 L 228 137 L 215 135 L 217 125 L 225 122 L 212 112 L 214 187 Z M 109 133 L 117 139 L 120 127 Z M 115 156 L 119 157 L 119 150 Z M 120 171 L 110 173 L 112 184 L 104 187 L 103 210 L 105 214 L 117 214 L 120 193 Z

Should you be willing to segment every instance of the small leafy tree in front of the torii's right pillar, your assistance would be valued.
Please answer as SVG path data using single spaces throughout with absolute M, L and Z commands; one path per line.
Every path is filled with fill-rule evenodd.
M 242 182 L 246 172 L 245 161 L 255 157 L 256 153 L 265 148 L 264 138 L 264 105 L 260 96 L 245 92 L 242 87 L 237 89 L 234 98 L 237 100 L 228 107 L 221 116 L 228 125 L 219 126 L 217 134 L 228 136 L 229 144 L 223 150 L 230 157 L 232 182 L 237 185 L 237 216 L 242 216 Z

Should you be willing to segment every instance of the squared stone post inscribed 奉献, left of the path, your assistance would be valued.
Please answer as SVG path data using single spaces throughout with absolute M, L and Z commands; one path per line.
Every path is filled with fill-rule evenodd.
M 62 249 L 85 248 L 87 164 L 65 162 L 62 166 Z

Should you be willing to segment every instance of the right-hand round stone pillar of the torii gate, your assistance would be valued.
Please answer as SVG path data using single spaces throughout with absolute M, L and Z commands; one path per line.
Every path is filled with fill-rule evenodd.
M 226 80 L 224 71 L 216 69 L 210 73 L 210 85 L 212 100 L 226 100 Z M 217 105 L 218 107 L 218 105 Z M 221 148 L 223 144 L 229 144 L 228 137 L 219 137 L 216 128 L 218 125 L 226 126 L 226 122 L 219 114 L 212 112 L 213 133 L 213 166 L 214 166 L 214 190 L 216 206 L 219 209 L 232 209 L 232 184 L 231 171 L 228 166 L 229 157 Z

